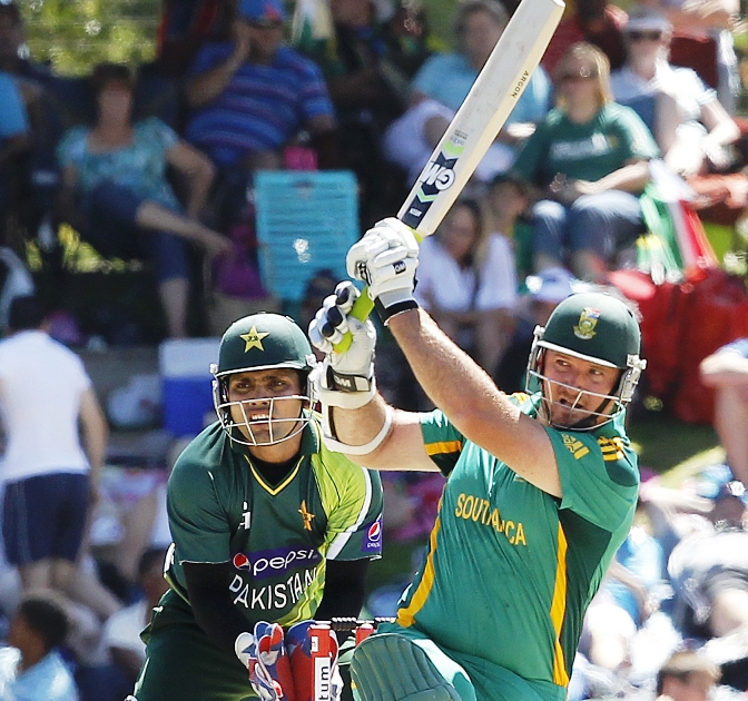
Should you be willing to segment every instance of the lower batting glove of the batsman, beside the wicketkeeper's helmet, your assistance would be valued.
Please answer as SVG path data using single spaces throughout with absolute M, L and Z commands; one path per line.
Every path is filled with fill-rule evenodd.
M 317 396 L 328 406 L 358 408 L 367 404 L 376 392 L 376 330 L 370 320 L 360 322 L 348 316 L 360 294 L 353 283 L 339 283 L 335 294 L 325 298 L 309 324 L 312 345 L 325 354 L 322 364 L 312 372 L 311 379 Z M 347 332 L 353 337 L 350 347 L 336 353 L 334 345 Z

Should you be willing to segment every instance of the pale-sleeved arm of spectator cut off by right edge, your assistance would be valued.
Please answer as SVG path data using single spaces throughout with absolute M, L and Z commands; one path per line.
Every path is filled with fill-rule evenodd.
M 748 484 L 748 338 L 709 355 L 701 382 L 716 391 L 715 428 L 736 478 Z

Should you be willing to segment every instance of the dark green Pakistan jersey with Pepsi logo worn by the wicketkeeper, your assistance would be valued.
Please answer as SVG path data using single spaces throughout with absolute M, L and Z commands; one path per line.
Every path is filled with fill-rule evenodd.
M 304 428 L 298 462 L 277 485 L 267 484 L 246 446 L 230 442 L 218 423 L 209 426 L 177 460 L 167 507 L 173 589 L 187 600 L 184 562 L 232 562 L 229 595 L 252 624 L 314 618 L 326 560 L 382 553 L 380 476 L 329 452 L 316 417 Z

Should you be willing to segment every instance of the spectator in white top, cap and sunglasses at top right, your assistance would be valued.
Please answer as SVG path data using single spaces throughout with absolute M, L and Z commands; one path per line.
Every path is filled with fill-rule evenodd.
M 616 99 L 632 107 L 657 139 L 665 162 L 688 178 L 729 165 L 726 147 L 740 129 L 690 68 L 668 62 L 672 26 L 653 8 L 637 7 L 623 33 L 628 59 L 611 76 Z

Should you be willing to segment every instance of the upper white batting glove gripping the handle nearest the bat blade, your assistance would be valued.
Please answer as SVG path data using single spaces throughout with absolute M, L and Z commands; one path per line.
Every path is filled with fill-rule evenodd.
M 385 325 L 395 314 L 419 306 L 413 297 L 419 241 L 400 219 L 377 221 L 351 246 L 345 265 L 351 277 L 368 285 L 368 296 Z

